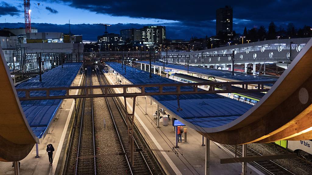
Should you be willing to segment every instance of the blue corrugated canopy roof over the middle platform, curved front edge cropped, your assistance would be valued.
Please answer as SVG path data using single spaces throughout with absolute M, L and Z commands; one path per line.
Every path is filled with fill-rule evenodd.
M 160 77 L 152 74 L 152 78 L 149 78 L 149 73 L 133 68 L 126 67 L 126 74 L 121 64 L 109 62 L 106 63 L 115 71 L 120 73 L 126 79 L 133 84 L 145 84 L 145 83 L 177 83 L 174 80 Z M 183 89 L 190 89 L 191 86 L 183 86 Z M 163 88 L 163 91 L 175 91 L 175 88 Z M 182 88 L 181 88 L 182 90 Z M 146 88 L 148 91 L 158 91 L 158 88 Z M 198 127 L 217 127 L 234 121 L 239 116 L 248 111 L 252 106 L 243 102 L 239 102 L 218 94 L 194 94 L 194 95 L 180 95 L 180 108 L 182 111 L 177 111 L 177 96 L 175 95 L 162 95 L 152 96 L 159 103 L 177 116 L 183 118 L 183 120 L 192 123 Z

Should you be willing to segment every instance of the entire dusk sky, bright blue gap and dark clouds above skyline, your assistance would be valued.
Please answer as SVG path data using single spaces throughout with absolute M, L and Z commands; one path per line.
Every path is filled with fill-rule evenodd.
M 109 32 L 164 25 L 169 39 L 190 39 L 193 36 L 215 35 L 216 9 L 233 7 L 233 30 L 242 33 L 244 27 L 265 26 L 271 21 L 286 29 L 294 23 L 296 29 L 311 25 L 311 0 L 261 1 L 139 1 L 139 0 L 30 0 L 32 26 L 41 32 L 59 31 L 83 35 L 84 40 L 96 40 L 104 27 L 93 23 L 113 24 Z M 40 2 L 38 7 L 37 3 Z M 5 19 L 7 24 L 5 24 Z M 0 27 L 24 27 L 22 0 L 0 0 Z M 67 24 L 67 25 L 66 25 Z

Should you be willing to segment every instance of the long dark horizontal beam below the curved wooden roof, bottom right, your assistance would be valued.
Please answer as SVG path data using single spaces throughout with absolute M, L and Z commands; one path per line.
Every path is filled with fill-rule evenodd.
M 238 162 L 257 162 L 257 161 L 296 158 L 296 157 L 297 157 L 296 153 L 291 153 L 291 154 L 277 154 L 277 155 L 265 155 L 265 156 L 222 158 L 220 159 L 220 163 L 225 164 L 225 163 L 238 163 Z

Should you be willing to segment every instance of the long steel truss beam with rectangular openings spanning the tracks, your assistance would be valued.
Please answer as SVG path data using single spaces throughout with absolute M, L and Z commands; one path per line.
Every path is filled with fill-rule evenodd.
M 17 92 L 25 92 L 25 97 L 19 97 L 19 100 L 47 100 L 47 99 L 66 99 L 66 98 L 95 98 L 95 97 L 136 97 L 136 96 L 152 96 L 152 95 L 183 95 L 183 94 L 208 94 L 208 93 L 239 93 L 239 92 L 267 92 L 269 89 L 264 88 L 265 84 L 275 83 L 275 81 L 259 81 L 259 82 L 204 82 L 204 83 L 166 83 L 166 84 L 131 84 L 131 85 L 102 85 L 102 86 L 71 86 L 71 87 L 51 87 L 51 88 L 31 88 L 16 89 Z M 257 89 L 248 89 L 248 85 L 256 85 Z M 209 91 L 198 89 L 198 86 L 209 86 Z M 221 85 L 225 85 L 224 90 L 216 90 Z M 241 89 L 232 89 L 232 85 L 241 85 Z M 186 90 L 183 87 L 192 86 L 193 89 Z M 140 88 L 141 92 L 128 93 L 127 87 Z M 147 87 L 156 87 L 158 90 L 154 92 L 145 92 Z M 109 89 L 123 88 L 123 93 L 110 94 Z M 84 94 L 70 95 L 69 90 L 88 90 L 88 89 L 104 89 L 104 94 Z M 170 92 L 163 92 L 163 89 L 171 89 Z M 53 91 L 65 90 L 65 96 L 50 96 Z M 86 91 L 88 92 L 88 91 Z M 44 96 L 38 97 L 38 94 Z

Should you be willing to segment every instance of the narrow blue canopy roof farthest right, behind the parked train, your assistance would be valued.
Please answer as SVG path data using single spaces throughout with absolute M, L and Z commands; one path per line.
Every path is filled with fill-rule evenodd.
M 137 61 L 136 63 L 149 64 L 148 61 Z M 163 67 L 163 63 L 152 63 L 152 65 Z M 189 73 L 198 73 L 202 75 L 227 78 L 227 79 L 238 80 L 238 81 L 276 81 L 277 80 L 276 78 L 246 75 L 246 74 L 238 73 L 238 72 L 235 72 L 235 74 L 232 75 L 232 72 L 225 71 L 225 70 L 200 68 L 200 67 L 195 67 L 195 66 L 189 66 L 189 69 L 188 69 L 188 68 L 185 68 L 183 65 L 170 64 L 170 63 L 168 63 L 168 65 L 165 64 L 165 67 L 184 70 L 184 71 L 188 71 Z M 273 84 L 267 84 L 267 85 L 272 86 Z

